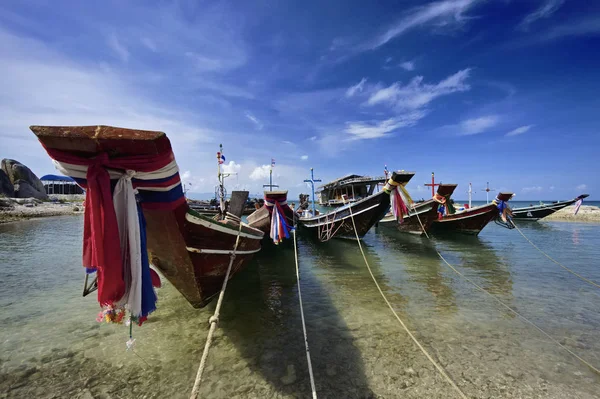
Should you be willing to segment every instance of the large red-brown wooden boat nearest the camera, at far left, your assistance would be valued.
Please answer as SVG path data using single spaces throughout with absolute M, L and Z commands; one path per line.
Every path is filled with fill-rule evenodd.
M 205 306 L 221 289 L 238 235 L 230 277 L 261 249 L 264 233 L 240 220 L 247 192 L 232 194 L 229 212 L 224 217 L 211 218 L 190 209 L 166 134 L 110 126 L 32 126 L 31 130 L 57 168 L 87 190 L 84 235 L 90 230 L 92 235 L 104 234 L 95 231 L 99 228 L 96 221 L 104 218 L 105 223 L 110 222 L 117 204 L 116 200 L 112 202 L 115 184 L 129 179 L 137 191 L 140 218 L 145 219 L 140 235 L 145 232 L 149 260 L 192 306 Z M 109 192 L 98 193 L 103 187 L 108 187 Z M 105 202 L 100 205 L 98 195 L 104 196 Z M 93 250 L 107 254 L 106 248 L 98 246 L 106 245 L 109 239 L 105 235 L 104 243 L 96 241 Z M 84 255 L 85 249 L 84 240 Z M 143 249 L 142 246 L 144 255 Z M 89 263 L 84 256 L 85 267 L 98 266 L 99 284 L 111 283 L 109 279 L 115 275 L 111 277 L 107 272 L 115 265 Z

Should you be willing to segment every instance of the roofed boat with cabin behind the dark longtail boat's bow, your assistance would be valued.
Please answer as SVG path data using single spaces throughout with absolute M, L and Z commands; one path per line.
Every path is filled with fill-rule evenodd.
M 373 195 L 377 185 L 386 181 L 387 178 L 384 176 L 347 175 L 340 177 L 319 187 L 317 201 L 322 206 L 347 205 Z

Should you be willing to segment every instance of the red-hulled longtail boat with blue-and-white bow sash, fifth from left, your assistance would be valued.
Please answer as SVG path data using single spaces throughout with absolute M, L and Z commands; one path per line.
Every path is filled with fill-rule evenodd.
M 492 220 L 501 217 L 504 227 L 512 228 L 510 223 L 510 208 L 506 204 L 513 193 L 499 193 L 490 204 L 466 208 L 462 212 L 454 212 L 452 206 L 446 206 L 443 216 L 435 220 L 431 226 L 432 233 L 463 233 L 478 235 Z M 450 198 L 446 201 L 450 203 Z M 451 204 L 451 203 L 450 203 Z

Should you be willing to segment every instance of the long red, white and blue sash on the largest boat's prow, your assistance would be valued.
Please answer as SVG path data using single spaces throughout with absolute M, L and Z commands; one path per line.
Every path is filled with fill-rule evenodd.
M 86 189 L 83 265 L 97 270 L 100 305 L 116 313 L 126 307 L 143 321 L 156 308 L 156 294 L 135 193 L 139 189 L 144 208 L 175 209 L 185 202 L 173 153 L 88 159 L 45 149 L 59 171 Z M 111 179 L 118 179 L 114 193 Z

